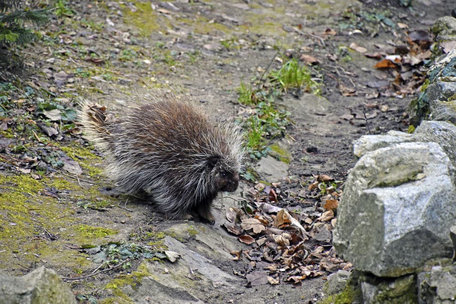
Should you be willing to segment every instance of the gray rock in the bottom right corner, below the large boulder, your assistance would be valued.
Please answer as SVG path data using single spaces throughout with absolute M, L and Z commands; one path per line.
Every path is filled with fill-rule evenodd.
M 434 266 L 418 275 L 419 303 L 456 302 L 456 264 Z

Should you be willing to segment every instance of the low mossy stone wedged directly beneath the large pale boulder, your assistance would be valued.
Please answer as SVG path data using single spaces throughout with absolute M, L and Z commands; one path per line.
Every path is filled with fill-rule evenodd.
M 361 289 L 365 304 L 414 304 L 417 300 L 416 283 L 413 275 L 390 280 L 363 281 L 361 282 Z

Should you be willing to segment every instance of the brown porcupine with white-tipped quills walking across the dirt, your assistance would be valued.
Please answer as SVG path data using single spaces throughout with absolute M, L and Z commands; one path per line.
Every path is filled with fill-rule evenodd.
M 146 192 L 168 217 L 197 214 L 213 224 L 212 201 L 238 187 L 237 127 L 209 119 L 182 96 L 158 93 L 117 119 L 82 100 L 78 116 L 87 138 L 107 157 L 107 176 L 126 194 Z

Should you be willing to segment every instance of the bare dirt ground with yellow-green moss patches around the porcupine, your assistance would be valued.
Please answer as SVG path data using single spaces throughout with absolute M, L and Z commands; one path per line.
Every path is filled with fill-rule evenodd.
M 292 113 L 286 135 L 293 139 L 288 175 L 295 177 L 281 190 L 297 193 L 298 181 L 316 174 L 345 180 L 356 162 L 351 153 L 354 139 L 408 129 L 406 105 L 416 97 L 419 85 L 394 85 L 397 75 L 392 70 L 374 68 L 379 59 L 349 46 L 355 43 L 374 53 L 405 45 L 410 31 L 429 29 L 450 12 L 449 6 L 450 1 L 436 0 L 412 1 L 409 8 L 399 1 L 71 1 L 66 6 L 69 11 L 53 14 L 42 28 L 41 41 L 21 51 L 25 71 L 14 80 L 6 73 L 2 78 L 18 88 L 47 92 L 65 105 L 73 105 L 74 97 L 91 99 L 120 117 L 123 97 L 169 86 L 192 95 L 211 115 L 236 118 L 242 109 L 237 93 L 241 81 L 259 79 L 268 67 L 278 68 L 277 49 L 282 58 L 315 57 L 318 62 L 311 69 L 322 83 L 321 96 L 290 92 L 279 101 Z M 419 73 L 421 66 L 413 71 Z M 11 98 L 22 100 L 17 92 Z M 24 112 L 18 110 L 20 115 Z M 5 132 L 0 138 L 5 146 L 0 154 L 0 264 L 7 273 L 21 275 L 45 264 L 66 278 L 86 276 L 97 265 L 81 251 L 83 245 L 128 241 L 158 246 L 163 231 L 183 222 L 164 219 L 153 205 L 117 192 L 101 174 L 102 158 L 81 134 L 63 132 L 60 140 L 54 137 L 49 144 Z M 81 163 L 83 173 L 75 178 L 69 171 L 51 168 L 40 171 L 40 178 L 31 178 L 36 168 L 17 169 L 28 169 L 24 151 L 10 148 L 19 144 L 30 157 L 64 151 Z M 252 185 L 245 181 L 241 189 Z M 219 217 L 223 214 L 217 212 Z M 217 223 L 190 226 L 198 233 L 205 229 L 223 233 Z M 92 226 L 105 230 L 91 230 Z M 226 233 L 224 237 L 236 240 Z M 203 241 L 187 234 L 183 242 L 198 251 Z M 117 273 L 67 282 L 82 302 L 107 303 L 116 294 L 112 297 L 112 289 L 103 286 L 131 274 L 139 261 L 131 264 L 131 269 Z M 215 264 L 230 274 L 248 267 L 246 261 L 221 258 Z M 245 279 L 238 276 L 236 288 L 212 286 L 194 294 L 210 303 L 250 303 L 254 297 L 265 303 L 312 303 L 322 296 L 324 277 L 303 280 L 298 288 L 292 284 L 246 288 Z M 235 289 L 237 293 L 223 294 Z M 117 296 L 111 302 L 129 302 Z

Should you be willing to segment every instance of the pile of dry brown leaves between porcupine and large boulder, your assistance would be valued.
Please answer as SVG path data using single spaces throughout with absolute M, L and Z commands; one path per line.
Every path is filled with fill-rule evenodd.
M 249 204 L 226 212 L 227 222 L 222 226 L 251 246 L 231 252 L 235 260 L 250 260 L 246 273 L 238 274 L 245 275 L 248 286 L 299 286 L 306 278 L 351 269 L 332 247 L 341 184 L 327 175 L 316 179 L 298 195 L 282 194 L 280 184 L 259 183 L 249 189 Z

